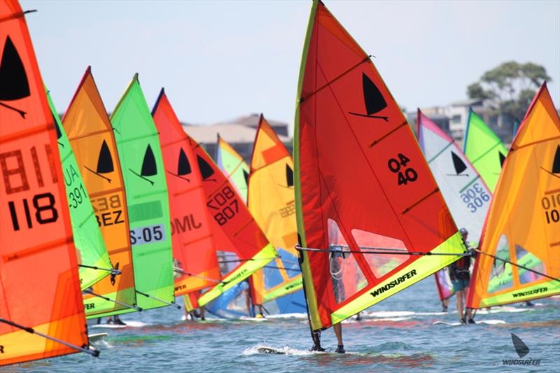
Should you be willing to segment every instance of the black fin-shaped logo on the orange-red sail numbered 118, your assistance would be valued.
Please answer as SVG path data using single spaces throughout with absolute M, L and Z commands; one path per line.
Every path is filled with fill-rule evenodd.
M 29 82 L 27 81 L 27 74 L 25 73 L 25 67 L 23 66 L 20 54 L 15 49 L 10 36 L 6 36 L 6 43 L 4 43 L 0 62 L 0 106 L 16 111 L 22 118 L 25 118 L 25 111 L 4 104 L 1 101 L 23 99 L 30 94 Z

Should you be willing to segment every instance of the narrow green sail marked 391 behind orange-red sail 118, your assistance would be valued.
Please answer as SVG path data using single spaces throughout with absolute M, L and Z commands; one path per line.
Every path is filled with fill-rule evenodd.
M 80 288 L 84 290 L 109 276 L 113 266 L 111 260 L 109 260 L 109 253 L 107 253 L 99 225 L 97 225 L 87 190 L 85 190 L 76 157 L 48 91 L 47 99 L 57 129 L 58 151 L 62 163 L 64 186 L 68 196 L 74 244 L 77 249 L 78 264 L 83 266 L 79 267 Z

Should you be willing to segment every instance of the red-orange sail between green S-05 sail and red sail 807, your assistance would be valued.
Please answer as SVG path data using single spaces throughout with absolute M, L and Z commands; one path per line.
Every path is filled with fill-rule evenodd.
M 173 256 L 180 275 L 175 279 L 177 296 L 219 283 L 220 267 L 193 144 L 163 90 L 152 115 L 160 133 L 169 189 Z

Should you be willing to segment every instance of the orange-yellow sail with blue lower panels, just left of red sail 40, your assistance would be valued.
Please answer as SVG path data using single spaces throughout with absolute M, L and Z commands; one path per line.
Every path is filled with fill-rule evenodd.
M 275 314 L 305 312 L 302 276 L 295 250 L 293 160 L 263 115 L 260 115 L 255 134 L 247 205 L 279 253 L 278 258 L 251 277 L 253 302 L 266 304 L 266 309 Z

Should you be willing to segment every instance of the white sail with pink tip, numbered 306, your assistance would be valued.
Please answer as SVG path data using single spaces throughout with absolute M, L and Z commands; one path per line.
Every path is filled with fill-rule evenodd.
M 478 246 L 490 206 L 491 192 L 454 139 L 420 109 L 416 120 L 418 141 L 456 225 L 468 231 L 468 244 Z M 440 300 L 454 294 L 447 268 L 435 274 Z

